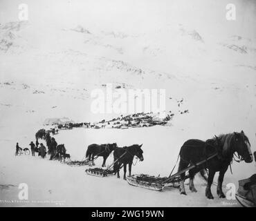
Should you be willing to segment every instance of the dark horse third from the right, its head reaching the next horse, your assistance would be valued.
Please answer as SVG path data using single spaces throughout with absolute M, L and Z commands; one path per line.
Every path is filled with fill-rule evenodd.
M 92 161 L 92 164 L 94 164 L 93 160 L 95 156 L 103 157 L 103 163 L 102 167 L 106 166 L 106 160 L 107 157 L 109 157 L 109 154 L 117 148 L 117 144 L 91 144 L 87 147 L 86 151 L 86 158 L 88 158 L 89 161 Z

